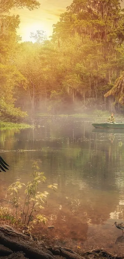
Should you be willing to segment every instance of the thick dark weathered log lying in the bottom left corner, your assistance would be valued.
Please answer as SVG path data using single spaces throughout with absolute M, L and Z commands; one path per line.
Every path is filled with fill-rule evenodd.
M 28 258 L 54 259 L 54 255 L 49 250 L 43 249 L 28 236 L 14 231 L 8 226 L 0 225 L 0 244 L 13 252 L 22 251 Z

